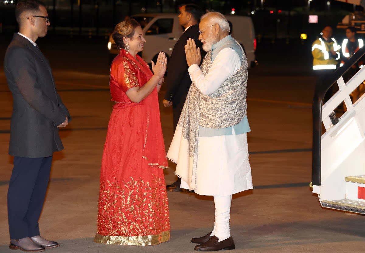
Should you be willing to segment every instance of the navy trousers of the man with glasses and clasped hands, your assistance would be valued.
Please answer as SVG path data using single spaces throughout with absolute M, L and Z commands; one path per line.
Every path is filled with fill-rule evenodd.
M 14 157 L 8 189 L 10 239 L 39 236 L 38 219 L 49 182 L 52 156 Z

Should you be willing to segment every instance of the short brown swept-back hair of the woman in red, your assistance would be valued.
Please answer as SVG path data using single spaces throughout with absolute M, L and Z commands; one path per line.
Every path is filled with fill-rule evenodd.
M 135 19 L 128 19 L 116 24 L 112 33 L 112 38 L 119 49 L 126 47 L 123 37 L 132 38 L 134 35 L 134 30 L 138 26 L 141 26 L 141 24 L 139 24 Z

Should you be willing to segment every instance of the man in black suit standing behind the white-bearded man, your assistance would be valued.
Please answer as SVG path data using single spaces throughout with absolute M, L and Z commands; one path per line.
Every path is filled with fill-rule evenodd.
M 202 44 L 198 39 L 200 16 L 201 9 L 195 4 L 186 4 L 180 8 L 179 22 L 185 28 L 185 31 L 176 42 L 167 65 L 166 94 L 164 101 L 162 101 L 165 107 L 172 105 L 174 131 L 191 85 L 188 72 L 189 66 L 185 55 L 187 40 L 192 38 L 196 41 L 196 46 L 200 48 L 202 59 L 207 53 L 203 50 Z M 181 180 L 177 179 L 173 184 L 166 186 L 166 189 L 169 191 L 183 191 L 180 188 L 180 182 Z

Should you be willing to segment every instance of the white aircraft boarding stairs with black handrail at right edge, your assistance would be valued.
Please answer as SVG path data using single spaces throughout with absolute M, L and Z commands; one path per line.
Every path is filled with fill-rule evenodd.
M 365 80 L 365 67 L 347 83 L 342 75 L 365 54 L 364 48 L 331 80 L 316 87 L 313 100 L 313 192 L 322 207 L 360 214 L 365 214 L 365 95 L 353 104 L 350 93 Z M 338 85 L 339 91 L 322 106 L 332 85 Z M 347 110 L 337 121 L 333 111 L 343 102 Z M 326 129 L 323 135 L 322 123 Z

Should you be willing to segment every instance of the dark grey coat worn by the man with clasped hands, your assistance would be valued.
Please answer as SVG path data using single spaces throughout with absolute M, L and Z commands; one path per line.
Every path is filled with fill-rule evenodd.
M 28 39 L 14 34 L 4 59 L 13 95 L 9 155 L 47 157 L 62 150 L 57 126 L 70 113 L 62 103 L 49 62 Z

